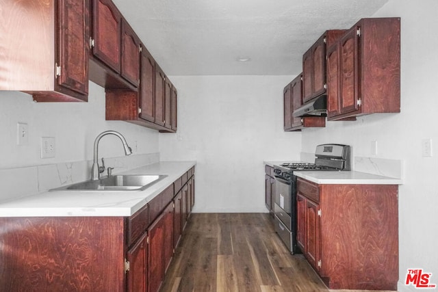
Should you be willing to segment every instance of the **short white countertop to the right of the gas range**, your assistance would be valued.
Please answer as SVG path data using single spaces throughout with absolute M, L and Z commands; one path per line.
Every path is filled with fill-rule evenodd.
M 318 185 L 402 185 L 399 178 L 354 171 L 296 171 L 294 174 Z

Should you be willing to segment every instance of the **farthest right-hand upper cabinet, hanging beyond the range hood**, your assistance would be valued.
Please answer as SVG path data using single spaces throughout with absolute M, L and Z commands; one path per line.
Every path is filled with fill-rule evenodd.
M 302 75 L 298 75 L 283 90 L 284 130 L 301 131 L 310 127 L 325 127 L 326 118 L 321 116 L 294 117 L 293 112 L 302 105 Z

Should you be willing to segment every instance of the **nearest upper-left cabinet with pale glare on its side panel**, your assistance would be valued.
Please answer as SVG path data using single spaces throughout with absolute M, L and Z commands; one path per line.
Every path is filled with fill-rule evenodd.
M 88 100 L 88 0 L 6 0 L 0 90 L 35 101 Z

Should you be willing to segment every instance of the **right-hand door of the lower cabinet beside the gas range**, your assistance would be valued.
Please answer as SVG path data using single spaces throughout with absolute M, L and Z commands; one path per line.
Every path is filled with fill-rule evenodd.
M 318 261 L 320 260 L 320 217 L 318 215 L 319 206 L 310 200 L 306 200 L 306 235 L 305 235 L 305 255 L 307 261 L 318 271 Z

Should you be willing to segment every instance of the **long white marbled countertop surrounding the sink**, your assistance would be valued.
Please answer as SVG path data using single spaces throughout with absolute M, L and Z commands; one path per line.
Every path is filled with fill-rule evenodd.
M 194 165 L 194 161 L 162 161 L 120 173 L 167 175 L 143 191 L 44 191 L 0 202 L 0 217 L 128 217 Z

